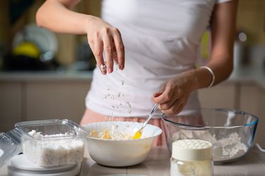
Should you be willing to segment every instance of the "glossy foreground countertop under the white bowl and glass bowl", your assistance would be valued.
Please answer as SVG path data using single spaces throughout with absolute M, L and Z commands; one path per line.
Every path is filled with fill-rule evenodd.
M 170 152 L 165 147 L 153 147 L 148 158 L 139 165 L 124 168 L 112 168 L 98 165 L 85 152 L 86 158 L 79 175 L 151 175 L 170 176 Z M 225 165 L 215 165 L 215 176 L 263 176 L 265 172 L 265 153 L 254 147 L 245 158 Z M 0 176 L 7 175 L 7 167 L 0 168 Z

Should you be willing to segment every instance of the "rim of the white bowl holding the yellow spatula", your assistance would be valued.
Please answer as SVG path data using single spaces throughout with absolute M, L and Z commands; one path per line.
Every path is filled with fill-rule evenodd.
M 90 124 L 99 124 L 99 123 L 106 123 L 106 122 L 118 122 L 118 123 L 138 123 L 138 124 L 143 124 L 143 122 L 133 122 L 133 121 L 104 121 L 104 122 L 92 122 L 92 123 L 87 123 L 87 124 L 84 124 L 82 125 L 82 127 L 85 127 L 87 125 L 90 125 Z M 144 137 L 144 138 L 139 138 L 139 139 L 101 139 L 101 138 L 97 138 L 97 137 L 90 137 L 89 134 L 87 135 L 86 138 L 88 139 L 95 139 L 95 140 L 99 140 L 99 141 L 112 141 L 112 142 L 129 142 L 129 141 L 139 141 L 139 140 L 145 140 L 145 139 L 152 139 L 152 138 L 155 138 L 155 137 L 158 137 L 163 131 L 160 127 L 156 126 L 156 125 L 152 125 L 152 124 L 146 124 L 147 125 L 151 125 L 155 128 L 157 128 L 157 134 L 153 135 L 152 137 Z M 88 128 L 86 128 L 86 130 L 88 130 L 90 132 L 90 130 Z M 143 129 L 144 130 L 144 129 Z

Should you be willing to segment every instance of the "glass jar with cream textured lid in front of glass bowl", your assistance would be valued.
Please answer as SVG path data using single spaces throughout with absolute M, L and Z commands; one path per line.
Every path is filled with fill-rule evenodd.
M 172 143 L 170 176 L 212 176 L 212 144 L 199 139 Z

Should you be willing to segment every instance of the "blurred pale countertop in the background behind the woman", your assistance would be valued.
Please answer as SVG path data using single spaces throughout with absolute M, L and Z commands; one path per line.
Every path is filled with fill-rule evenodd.
M 0 81 L 57 81 L 57 80 L 91 80 L 92 71 L 57 70 L 57 71 L 10 71 L 0 70 Z M 225 82 L 255 83 L 265 90 L 265 68 L 263 61 L 253 61 L 249 65 L 235 65 Z

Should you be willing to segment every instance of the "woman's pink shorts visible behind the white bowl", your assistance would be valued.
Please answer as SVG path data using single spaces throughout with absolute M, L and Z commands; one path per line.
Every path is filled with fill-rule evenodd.
M 104 121 L 131 121 L 131 122 L 144 122 L 146 118 L 110 118 L 106 117 L 105 115 L 101 115 L 99 113 L 95 113 L 91 111 L 90 109 L 86 109 L 83 118 L 81 120 L 81 125 L 85 125 L 92 122 L 104 122 Z M 163 120 L 161 118 L 154 118 L 151 119 L 149 122 L 151 125 L 158 126 L 162 129 L 162 134 L 158 136 L 155 141 L 153 142 L 153 146 L 166 146 L 166 140 L 165 140 L 165 133 L 164 133 L 164 127 L 163 127 Z

